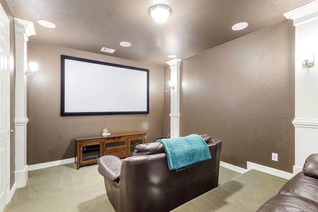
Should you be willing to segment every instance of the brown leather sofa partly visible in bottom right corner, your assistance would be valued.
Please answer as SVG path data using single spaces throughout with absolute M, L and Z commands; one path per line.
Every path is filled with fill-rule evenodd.
M 318 212 L 318 153 L 257 212 Z

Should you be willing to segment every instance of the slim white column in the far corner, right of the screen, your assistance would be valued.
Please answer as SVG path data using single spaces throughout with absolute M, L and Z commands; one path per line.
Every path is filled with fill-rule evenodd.
M 181 59 L 166 62 L 170 66 L 170 81 L 174 89 L 170 88 L 170 138 L 179 137 L 180 132 L 180 63 Z

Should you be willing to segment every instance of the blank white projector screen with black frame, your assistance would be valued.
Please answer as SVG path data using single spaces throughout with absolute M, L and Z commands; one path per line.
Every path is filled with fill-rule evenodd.
M 61 56 L 61 73 L 62 116 L 149 113 L 149 70 Z

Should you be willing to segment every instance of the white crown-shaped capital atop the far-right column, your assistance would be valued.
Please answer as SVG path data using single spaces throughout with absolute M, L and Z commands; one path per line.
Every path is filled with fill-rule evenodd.
M 306 23 L 318 18 L 318 0 L 300 6 L 289 12 L 284 13 L 284 16 L 294 21 L 294 26 Z

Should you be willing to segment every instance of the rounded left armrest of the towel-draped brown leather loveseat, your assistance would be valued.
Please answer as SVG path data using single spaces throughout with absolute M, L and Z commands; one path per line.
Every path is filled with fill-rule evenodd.
M 105 155 L 97 160 L 98 172 L 104 178 L 119 181 L 122 160 L 114 155 Z

